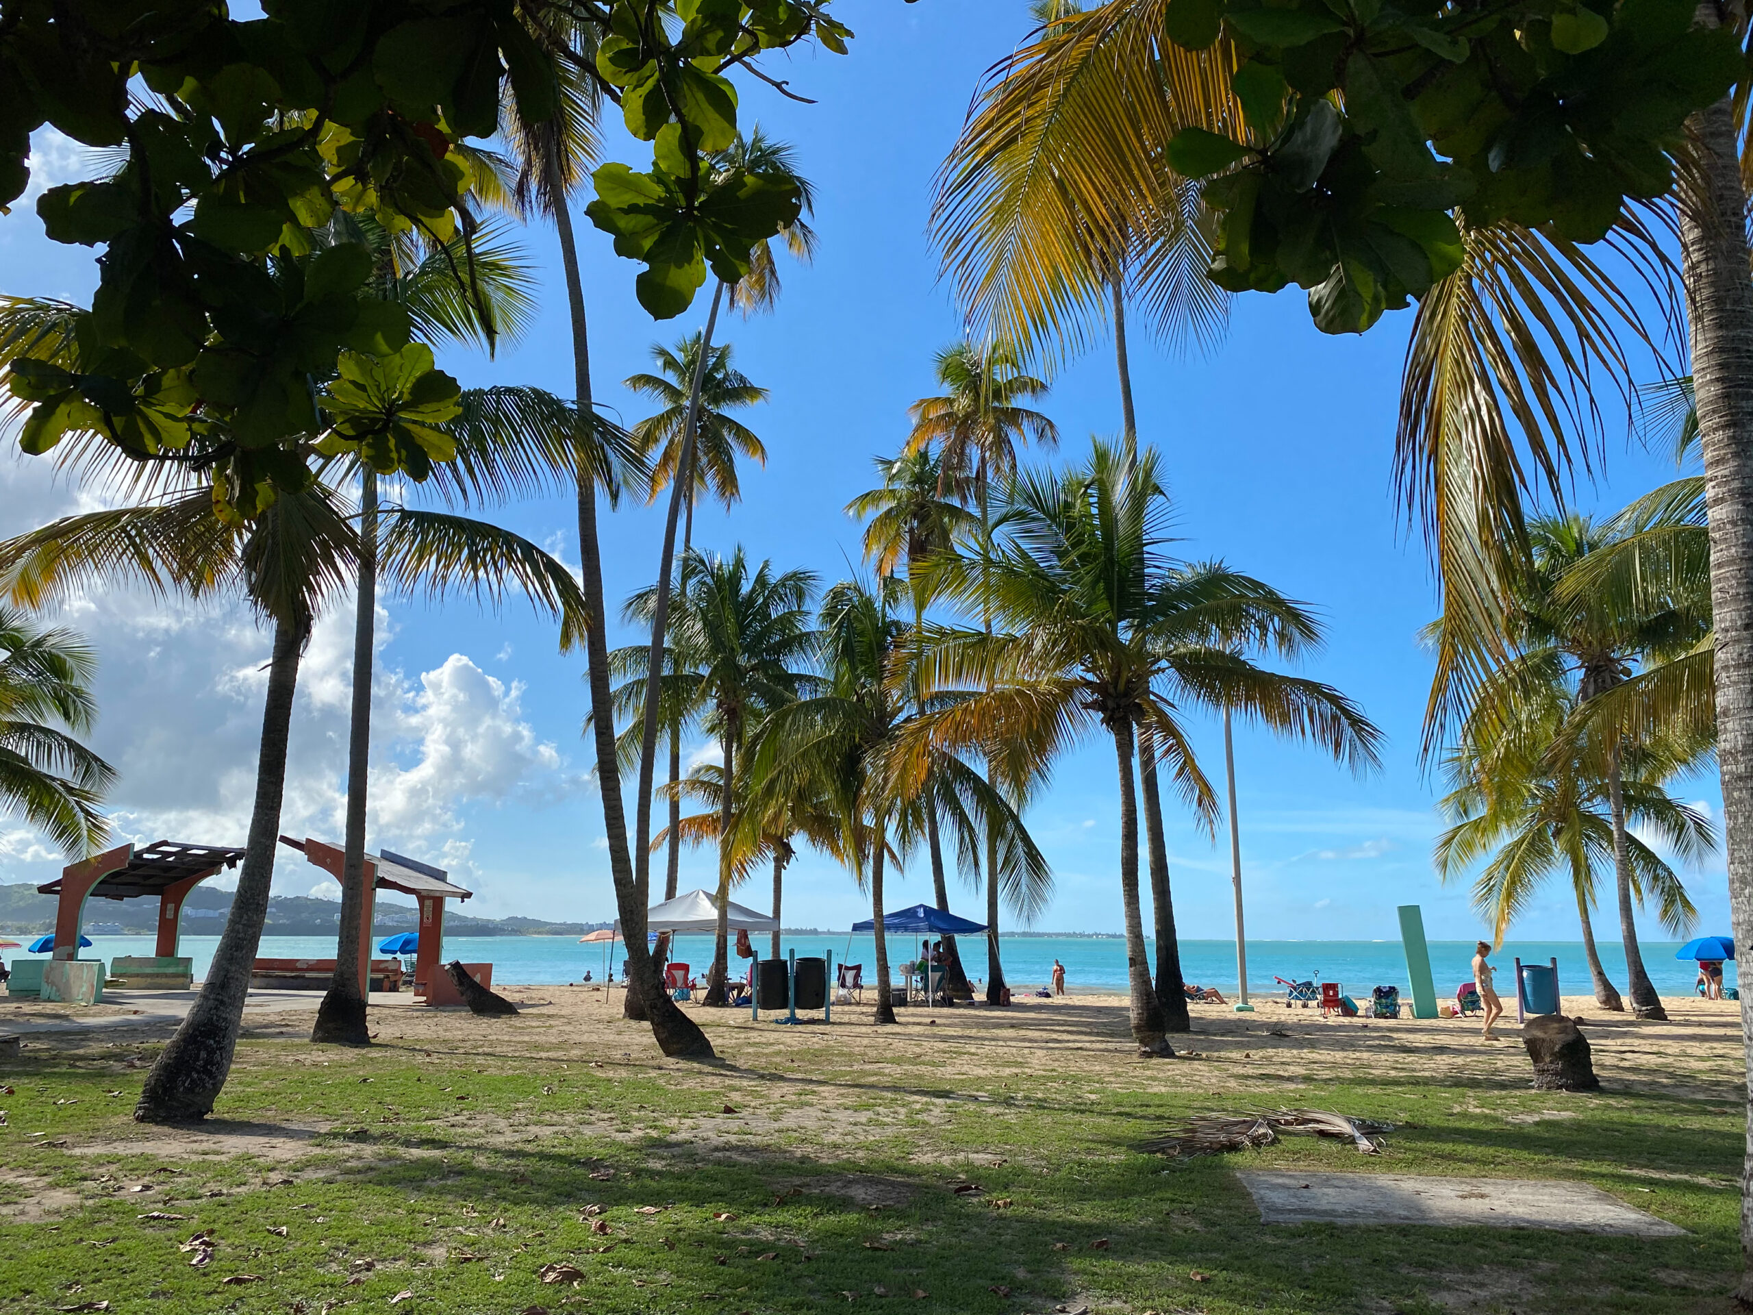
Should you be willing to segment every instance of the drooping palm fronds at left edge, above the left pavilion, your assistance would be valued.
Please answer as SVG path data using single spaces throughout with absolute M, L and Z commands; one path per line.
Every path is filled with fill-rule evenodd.
M 98 803 L 116 780 L 116 770 L 74 738 L 96 722 L 96 666 L 70 629 L 42 628 L 0 605 L 0 800 L 72 857 L 109 835 Z

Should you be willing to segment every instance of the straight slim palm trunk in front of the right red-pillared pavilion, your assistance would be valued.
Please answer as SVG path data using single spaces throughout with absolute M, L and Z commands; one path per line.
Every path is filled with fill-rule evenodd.
M 335 977 L 317 1006 L 312 1041 L 370 1045 L 359 980 L 359 924 L 365 920 L 365 803 L 372 763 L 372 666 L 377 647 L 377 472 L 359 473 L 359 589 L 352 619 L 352 721 L 347 728 L 347 833 L 342 840 L 340 931 Z M 370 933 L 366 933 L 370 935 Z M 428 991 L 431 984 L 428 984 Z

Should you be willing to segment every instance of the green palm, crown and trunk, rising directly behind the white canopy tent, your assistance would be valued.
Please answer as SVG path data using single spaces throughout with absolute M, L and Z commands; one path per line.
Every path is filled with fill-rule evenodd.
M 694 554 L 687 587 L 673 615 L 675 645 L 691 654 L 699 675 L 694 698 L 708 710 L 706 724 L 722 752 L 719 819 L 719 928 L 706 1005 L 726 1003 L 727 901 L 736 871 L 731 819 L 742 801 L 736 775 L 745 735 L 775 708 L 812 689 L 801 670 L 815 649 L 808 624 L 815 575 L 775 572 L 763 561 L 754 572 L 742 549 L 729 558 Z

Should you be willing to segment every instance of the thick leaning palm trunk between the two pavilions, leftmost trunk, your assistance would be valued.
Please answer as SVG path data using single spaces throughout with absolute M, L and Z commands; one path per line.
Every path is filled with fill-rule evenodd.
M 273 847 L 280 838 L 280 800 L 286 794 L 286 745 L 291 738 L 298 659 L 310 635 L 309 622 L 277 622 L 268 663 L 268 696 L 261 708 L 261 750 L 256 759 L 256 807 L 249 817 L 244 868 L 231 896 L 231 913 L 214 950 L 189 1017 L 145 1075 L 133 1117 L 145 1124 L 205 1119 L 231 1071 L 237 1034 L 244 1024 L 249 970 L 261 945 L 273 882 Z

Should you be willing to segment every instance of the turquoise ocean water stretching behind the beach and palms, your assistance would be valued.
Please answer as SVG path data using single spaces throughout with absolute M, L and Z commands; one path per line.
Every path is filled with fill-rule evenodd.
M 151 954 L 151 936 L 93 936 L 95 949 L 84 950 L 88 957 L 112 959 L 117 954 Z M 195 959 L 195 975 L 202 978 L 212 961 L 217 936 L 184 936 L 182 954 Z M 768 952 L 768 936 L 756 936 L 761 954 Z M 962 938 L 962 963 L 968 975 L 985 977 L 987 950 L 983 938 Z M 796 950 L 799 957 L 820 956 L 833 950 L 834 963 L 862 963 L 866 982 L 875 980 L 876 950 L 868 935 L 833 936 L 801 935 L 785 936 L 785 950 Z M 619 947 L 614 971 L 621 971 Z M 1118 936 L 1001 936 L 999 949 L 1004 963 L 1004 977 L 1011 989 L 1033 989 L 1045 985 L 1052 975 L 1054 959 L 1066 966 L 1066 985 L 1073 992 L 1113 992 L 1125 991 L 1125 942 Z M 1644 942 L 1643 957 L 1650 970 L 1650 978 L 1664 996 L 1685 996 L 1693 989 L 1697 964 L 1674 959 L 1678 942 Z M 580 945 L 571 936 L 447 936 L 444 943 L 445 959 L 463 963 L 491 963 L 494 984 L 507 985 L 557 985 L 578 982 L 586 971 L 593 980 L 603 978 L 603 966 L 608 961 L 603 945 Z M 896 963 L 908 954 L 917 957 L 919 943 L 912 936 L 891 936 L 889 957 Z M 19 956 L 12 950 L 9 956 Z M 333 938 L 321 936 L 263 936 L 261 957 L 265 959 L 323 959 L 335 954 Z M 1155 963 L 1155 945 L 1150 947 Z M 1492 956 L 1499 964 L 1499 980 L 1508 978 L 1511 963 L 1520 956 L 1522 963 L 1558 961 L 1558 984 L 1565 994 L 1586 996 L 1588 964 L 1583 959 L 1581 942 L 1508 942 L 1502 950 Z M 671 956 L 680 963 L 703 971 L 712 963 L 712 940 L 706 936 L 682 936 Z M 1473 942 L 1430 942 L 1430 964 L 1436 977 L 1439 998 L 1453 996 L 1460 982 L 1473 978 L 1469 963 L 1473 959 Z M 1600 942 L 1600 959 L 1608 975 L 1625 989 L 1625 954 L 1618 942 Z M 1183 940 L 1182 975 L 1187 982 L 1213 985 L 1224 994 L 1236 989 L 1236 943 L 1225 940 Z M 1325 980 L 1339 982 L 1348 994 L 1367 996 L 1371 987 L 1397 985 L 1408 994 L 1406 956 L 1401 943 L 1385 942 L 1322 942 L 1322 940 L 1260 940 L 1248 942 L 1248 987 L 1255 996 L 1281 994 L 1283 987 L 1273 982 L 1274 977 L 1290 980 Z M 1735 982 L 1735 966 L 1727 964 L 1727 980 Z

